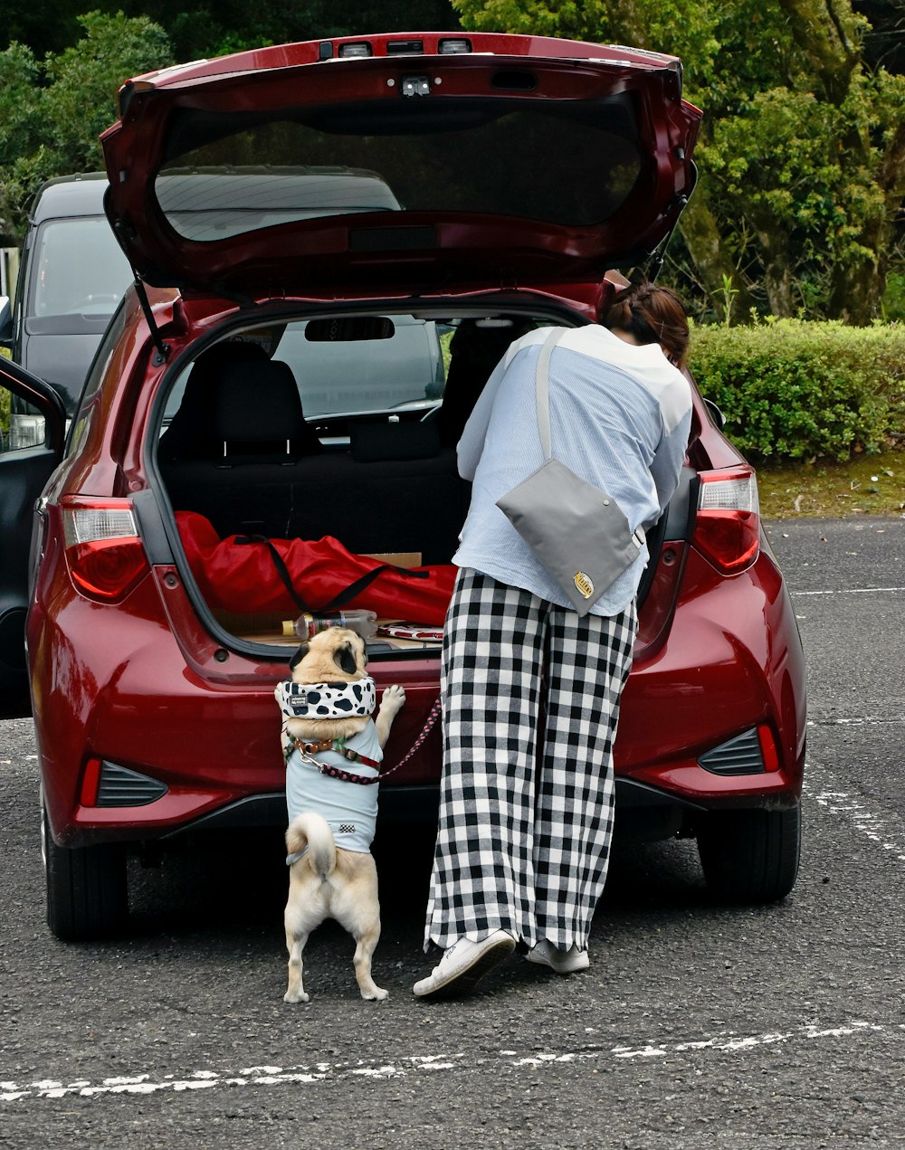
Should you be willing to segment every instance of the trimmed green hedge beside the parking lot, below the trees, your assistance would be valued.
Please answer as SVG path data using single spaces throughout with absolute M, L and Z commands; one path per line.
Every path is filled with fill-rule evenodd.
M 747 455 L 848 459 L 905 431 L 905 324 L 693 327 L 689 367 Z

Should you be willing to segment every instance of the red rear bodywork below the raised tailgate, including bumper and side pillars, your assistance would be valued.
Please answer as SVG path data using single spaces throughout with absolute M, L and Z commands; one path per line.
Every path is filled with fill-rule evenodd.
M 191 336 L 207 330 L 197 312 L 160 300 L 159 322 L 171 361 Z M 61 844 L 152 839 L 194 826 L 281 823 L 284 769 L 275 684 L 285 654 L 233 641 L 207 611 L 184 562 L 162 494 L 149 486 L 147 436 L 154 367 L 135 301 L 120 320 L 109 384 L 89 394 L 74 431 L 80 450 L 48 489 L 43 553 L 28 638 L 41 774 L 51 828 Z M 699 434 L 692 458 L 701 468 L 738 467 L 738 453 L 696 398 Z M 665 526 L 641 611 L 636 664 L 627 687 L 616 773 L 655 798 L 692 808 L 733 804 L 784 805 L 800 792 L 804 668 L 795 619 L 781 576 L 766 551 L 726 576 L 695 546 L 695 475 Z M 92 601 L 67 568 L 61 507 L 91 491 L 130 503 L 151 564 L 121 604 Z M 83 497 L 84 498 L 84 497 Z M 393 726 L 385 764 L 414 745 L 438 696 L 438 656 L 382 656 L 370 669 L 378 690 L 405 687 L 408 703 Z M 751 774 L 719 774 L 699 760 L 761 728 L 775 736 L 776 762 Z M 407 802 L 430 812 L 439 777 L 440 733 L 385 783 L 382 810 Z M 760 736 L 753 736 L 757 741 Z M 751 739 L 749 738 L 749 743 Z M 747 744 L 746 744 L 747 745 Z M 105 766 L 105 764 L 107 766 Z M 117 772 L 166 785 L 152 802 L 98 805 L 98 779 Z M 126 779 L 131 775 L 126 775 Z M 141 787 L 139 779 L 137 785 Z M 116 788 L 107 788 L 109 797 Z M 125 788 L 125 793 L 129 789 Z M 428 796 L 427 807 L 423 805 Z M 637 795 L 635 796 L 637 799 Z

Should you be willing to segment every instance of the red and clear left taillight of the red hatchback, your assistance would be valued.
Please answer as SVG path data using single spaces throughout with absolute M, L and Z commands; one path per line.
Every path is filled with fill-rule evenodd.
M 78 590 L 120 603 L 151 570 L 128 499 L 61 500 L 66 562 Z

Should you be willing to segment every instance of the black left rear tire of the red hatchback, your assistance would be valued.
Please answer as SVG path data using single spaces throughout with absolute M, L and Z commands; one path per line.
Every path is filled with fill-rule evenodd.
M 66 942 L 87 942 L 120 934 L 129 917 L 125 848 L 57 846 L 44 820 L 47 926 Z

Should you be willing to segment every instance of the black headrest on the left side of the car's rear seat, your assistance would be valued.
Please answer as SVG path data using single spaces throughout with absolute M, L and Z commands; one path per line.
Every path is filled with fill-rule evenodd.
M 306 430 L 296 377 L 279 360 L 228 365 L 214 404 L 216 436 L 228 445 L 290 440 Z

